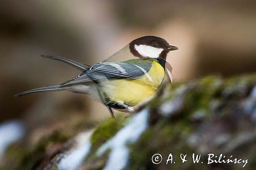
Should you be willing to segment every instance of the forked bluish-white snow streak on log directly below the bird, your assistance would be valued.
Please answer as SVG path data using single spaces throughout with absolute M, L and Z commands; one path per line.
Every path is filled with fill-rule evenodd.
M 102 155 L 106 150 L 111 149 L 109 159 L 104 170 L 123 169 L 129 159 L 129 149 L 127 143 L 135 142 L 147 127 L 148 110 L 144 109 L 134 115 L 129 123 L 119 130 L 116 135 L 105 142 L 97 151 L 97 155 Z

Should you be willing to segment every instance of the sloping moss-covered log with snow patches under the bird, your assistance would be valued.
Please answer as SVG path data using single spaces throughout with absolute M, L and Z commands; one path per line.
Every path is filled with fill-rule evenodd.
M 60 129 L 35 146 L 28 146 L 26 140 L 14 143 L 1 167 L 255 169 L 255 125 L 256 75 L 227 79 L 208 76 L 164 86 L 128 118 L 117 116 L 72 131 Z M 92 132 L 89 138 L 77 137 L 88 130 Z M 82 157 L 75 154 L 79 152 L 78 143 L 88 143 Z M 193 162 L 193 153 L 195 157 L 201 154 L 198 163 Z M 153 157 L 155 154 L 161 154 L 160 163 L 160 156 Z M 82 159 L 72 162 L 76 158 Z M 181 158 L 187 161 L 182 163 Z

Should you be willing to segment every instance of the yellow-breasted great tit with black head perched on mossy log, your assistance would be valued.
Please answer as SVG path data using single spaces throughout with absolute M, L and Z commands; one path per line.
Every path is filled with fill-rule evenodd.
M 105 105 L 113 118 L 113 109 L 133 113 L 136 106 L 150 98 L 163 82 L 172 83 L 172 66 L 166 57 L 174 50 L 178 50 L 178 47 L 169 45 L 163 38 L 143 36 L 94 65 L 54 55 L 41 55 L 63 62 L 81 73 L 66 82 L 20 92 L 15 96 L 68 90 L 88 94 Z

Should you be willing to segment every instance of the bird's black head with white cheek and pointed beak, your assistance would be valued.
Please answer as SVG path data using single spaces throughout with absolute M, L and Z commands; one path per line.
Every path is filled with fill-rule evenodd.
M 133 40 L 130 44 L 131 53 L 140 58 L 166 59 L 169 51 L 178 50 L 178 47 L 169 45 L 160 37 L 145 36 Z

